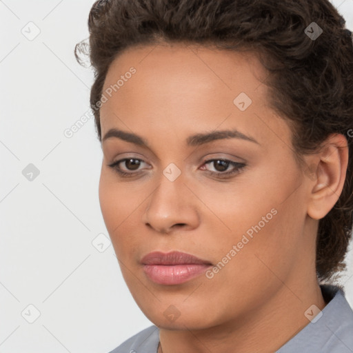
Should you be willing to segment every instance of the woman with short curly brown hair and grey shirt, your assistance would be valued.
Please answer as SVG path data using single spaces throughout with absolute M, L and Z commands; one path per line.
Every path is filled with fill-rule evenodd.
M 94 3 L 101 210 L 154 323 L 112 353 L 353 352 L 344 24 L 327 0 Z

